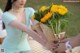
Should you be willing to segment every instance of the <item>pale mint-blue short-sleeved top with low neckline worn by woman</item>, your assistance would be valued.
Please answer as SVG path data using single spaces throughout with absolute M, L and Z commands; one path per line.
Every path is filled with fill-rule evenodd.
M 34 14 L 33 8 L 30 7 L 25 8 L 25 14 L 26 14 L 25 25 L 29 27 L 30 18 Z M 31 50 L 29 42 L 26 37 L 26 33 L 9 25 L 10 22 L 16 19 L 17 18 L 10 12 L 5 12 L 2 15 L 2 20 L 6 26 L 7 32 L 7 37 L 4 39 L 2 44 L 2 48 L 4 49 L 5 53 Z

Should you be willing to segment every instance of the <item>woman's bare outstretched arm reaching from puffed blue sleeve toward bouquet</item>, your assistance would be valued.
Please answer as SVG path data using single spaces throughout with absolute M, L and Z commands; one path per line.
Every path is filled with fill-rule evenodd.
M 38 41 L 39 43 L 41 43 L 43 46 L 47 47 L 48 49 L 51 49 L 53 47 L 53 45 L 54 45 L 52 43 L 50 44 L 50 43 L 46 42 L 45 40 L 42 40 L 39 37 L 39 34 L 35 33 L 33 30 L 31 30 L 26 25 L 20 23 L 17 20 L 14 20 L 14 21 L 10 22 L 9 25 L 14 27 L 14 28 L 17 28 L 19 30 L 22 30 L 22 31 L 26 32 L 31 37 L 33 37 L 33 39 L 35 39 L 36 41 Z

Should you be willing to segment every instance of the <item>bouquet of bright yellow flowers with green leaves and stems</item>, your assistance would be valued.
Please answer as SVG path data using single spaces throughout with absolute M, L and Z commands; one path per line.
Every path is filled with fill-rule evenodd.
M 45 32 L 47 38 L 54 39 L 54 37 L 60 37 L 60 33 L 63 31 L 66 23 L 67 17 L 70 16 L 68 9 L 63 5 L 50 5 L 42 6 L 38 11 L 32 16 L 33 19 L 39 21 L 42 25 L 46 25 L 49 30 L 46 30 L 46 27 L 40 27 Z M 41 25 L 41 26 L 42 26 Z M 52 33 L 52 35 L 50 35 Z M 51 36 L 51 38 L 49 38 Z M 52 41 L 52 40 L 51 40 Z

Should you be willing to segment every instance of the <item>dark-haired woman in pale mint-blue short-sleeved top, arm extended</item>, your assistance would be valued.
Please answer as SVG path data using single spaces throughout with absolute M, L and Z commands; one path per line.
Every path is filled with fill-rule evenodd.
M 24 8 L 25 3 L 26 0 L 7 1 L 5 13 L 2 15 L 7 31 L 7 37 L 2 44 L 5 53 L 32 53 L 26 33 L 46 48 L 50 50 L 53 48 L 53 43 L 47 42 L 29 28 L 34 10 L 30 7 Z

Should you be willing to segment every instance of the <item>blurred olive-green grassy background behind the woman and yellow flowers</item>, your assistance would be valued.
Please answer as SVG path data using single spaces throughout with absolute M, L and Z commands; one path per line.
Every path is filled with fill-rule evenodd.
M 26 7 L 32 7 L 35 10 L 39 9 L 41 6 L 49 6 L 51 4 L 64 5 L 72 13 L 72 16 L 68 17 L 68 25 L 65 27 L 64 31 L 68 37 L 76 36 L 80 33 L 80 2 L 63 2 L 63 0 L 28 0 Z M 0 8 L 4 10 L 6 0 L 0 0 Z

